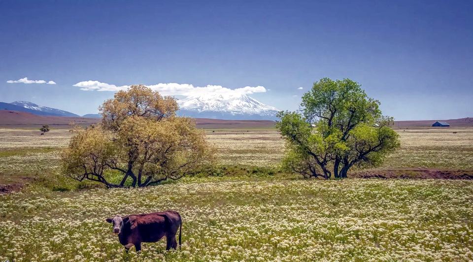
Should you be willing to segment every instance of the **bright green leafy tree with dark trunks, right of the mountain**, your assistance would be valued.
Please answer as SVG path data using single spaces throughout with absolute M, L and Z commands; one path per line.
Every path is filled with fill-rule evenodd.
M 356 166 L 378 166 L 400 146 L 379 101 L 350 79 L 322 78 L 302 97 L 299 112 L 281 111 L 276 127 L 287 142 L 283 166 L 304 177 L 346 178 Z M 315 123 L 313 128 L 311 123 Z

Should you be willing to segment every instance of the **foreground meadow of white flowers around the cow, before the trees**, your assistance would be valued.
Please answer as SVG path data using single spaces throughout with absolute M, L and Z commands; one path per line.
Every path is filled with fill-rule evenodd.
M 173 209 L 183 245 L 129 255 L 105 218 Z M 473 182 L 188 179 L 0 196 L 0 261 L 472 261 Z

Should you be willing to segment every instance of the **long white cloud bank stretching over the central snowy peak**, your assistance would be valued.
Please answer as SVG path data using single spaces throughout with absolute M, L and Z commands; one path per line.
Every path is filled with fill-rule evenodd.
M 116 86 L 110 85 L 107 83 L 101 83 L 99 81 L 83 81 L 79 82 L 73 86 L 80 87 L 84 91 L 120 91 L 126 90 L 128 86 Z M 262 86 L 257 87 L 242 87 L 237 89 L 230 89 L 222 86 L 207 85 L 204 87 L 195 87 L 190 84 L 177 84 L 177 83 L 168 83 L 168 84 L 157 84 L 157 85 L 147 85 L 154 91 L 158 91 L 161 95 L 165 96 L 174 96 L 174 95 L 183 95 L 183 96 L 200 96 L 203 94 L 222 94 L 222 95 L 246 95 L 253 93 L 264 93 L 266 88 Z

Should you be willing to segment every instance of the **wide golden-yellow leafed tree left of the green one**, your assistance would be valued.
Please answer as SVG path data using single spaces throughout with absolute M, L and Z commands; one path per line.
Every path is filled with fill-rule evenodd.
M 101 125 L 75 128 L 62 155 L 64 172 L 107 188 L 156 185 L 200 172 L 212 164 L 215 149 L 196 129 L 195 120 L 178 117 L 177 102 L 144 85 L 119 91 L 100 107 Z

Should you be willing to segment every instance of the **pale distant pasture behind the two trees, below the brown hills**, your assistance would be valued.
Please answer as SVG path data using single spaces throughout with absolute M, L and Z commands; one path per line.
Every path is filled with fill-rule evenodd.
M 379 168 L 473 170 L 473 128 L 397 131 L 401 148 Z M 218 147 L 223 165 L 276 166 L 284 155 L 284 141 L 275 129 L 207 130 L 206 134 Z M 68 130 L 39 135 L 37 130 L 0 129 L 0 183 L 8 182 L 1 178 L 5 174 L 57 172 L 60 150 L 70 136 Z

